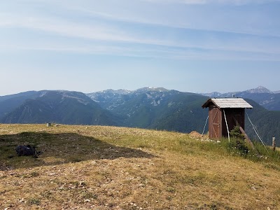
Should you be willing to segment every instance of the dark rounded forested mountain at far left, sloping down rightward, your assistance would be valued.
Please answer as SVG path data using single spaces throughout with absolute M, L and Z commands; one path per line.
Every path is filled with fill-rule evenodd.
M 82 92 L 22 92 L 0 97 L 0 107 L 1 123 L 118 125 L 110 111 L 102 109 Z

